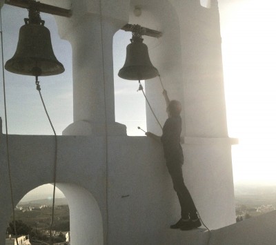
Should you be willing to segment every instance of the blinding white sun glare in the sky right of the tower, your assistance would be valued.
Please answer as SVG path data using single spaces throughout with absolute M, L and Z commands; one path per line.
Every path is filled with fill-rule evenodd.
M 228 133 L 235 182 L 275 183 L 276 4 L 241 1 L 221 14 Z

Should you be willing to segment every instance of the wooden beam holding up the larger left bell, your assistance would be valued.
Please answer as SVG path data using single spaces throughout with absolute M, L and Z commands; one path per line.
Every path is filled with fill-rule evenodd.
M 5 4 L 16 6 L 19 8 L 28 8 L 29 0 L 6 0 Z M 67 10 L 65 8 L 59 8 L 45 3 L 37 2 L 37 8 L 39 12 L 45 12 L 47 14 L 55 14 L 62 17 L 71 17 L 72 10 Z

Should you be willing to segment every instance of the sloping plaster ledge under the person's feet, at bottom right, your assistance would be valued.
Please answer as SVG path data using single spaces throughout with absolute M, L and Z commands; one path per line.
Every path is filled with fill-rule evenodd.
M 166 230 L 166 239 L 161 245 L 274 245 L 276 211 L 246 219 L 230 226 L 211 230 L 193 231 Z

